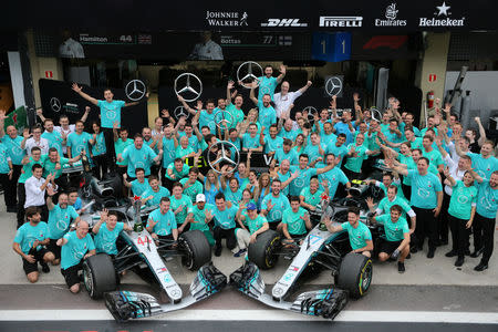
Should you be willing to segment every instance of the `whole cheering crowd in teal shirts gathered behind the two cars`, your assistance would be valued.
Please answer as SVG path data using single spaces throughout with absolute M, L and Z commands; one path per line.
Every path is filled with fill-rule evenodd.
M 39 279 L 38 264 L 43 272 L 50 271 L 49 263 L 60 264 L 68 287 L 77 292 L 84 258 L 117 253 L 116 239 L 127 225 L 107 210 L 92 228 L 81 220 L 85 207 L 62 173 L 83 157 L 95 177 L 122 177 L 124 195 L 156 208 L 146 225 L 154 238 L 177 240 L 198 229 L 217 257 L 224 239 L 235 257 L 245 257 L 268 229 L 281 232 L 284 245 L 299 245 L 321 201 L 344 197 L 352 180 L 361 179 L 384 193 L 380 201 L 366 199 L 372 222 L 384 226 L 378 248 L 357 208 L 350 208 L 347 221 L 339 226 L 325 220 L 329 231 L 349 234 L 354 252 L 376 252 L 380 261 L 395 260 L 404 272 L 412 255 L 432 259 L 438 247 L 450 243 L 445 256 L 454 257 L 455 266 L 471 256 L 481 257 L 476 271 L 488 268 L 498 160 L 479 118 L 479 133 L 464 132 L 450 105 L 440 107 L 437 101 L 435 115 L 419 129 L 414 114 L 396 98 L 375 118 L 357 94 L 352 111 L 336 110 L 332 97 L 330 106 L 308 114 L 293 110 L 293 102 L 312 83 L 291 92 L 284 75 L 283 66 L 278 77 L 271 66 L 264 68 L 259 84 L 248 86 L 251 110 L 242 110 L 235 82 L 227 84 L 226 96 L 195 106 L 178 96 L 190 120 L 164 110 L 142 133 L 121 127 L 122 108 L 133 103 L 113 100 L 111 90 L 97 100 L 77 84 L 74 93 L 100 108 L 100 122 L 86 124 L 86 110 L 75 124 L 61 115 L 55 126 L 40 111 L 43 126 L 19 135 L 13 126 L 4 128 L 0 112 L 0 179 L 7 211 L 18 216 L 13 250 L 29 281 Z M 230 144 L 224 148 L 220 141 Z M 242 158 L 221 160 L 221 151 L 231 159 L 237 154 Z M 270 160 L 262 170 L 251 166 L 257 154 Z M 382 179 L 366 178 L 375 163 L 388 170 Z

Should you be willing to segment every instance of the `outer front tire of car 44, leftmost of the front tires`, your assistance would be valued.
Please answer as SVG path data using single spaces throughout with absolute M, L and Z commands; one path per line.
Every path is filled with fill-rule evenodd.
M 98 253 L 83 261 L 83 281 L 92 299 L 116 290 L 117 276 L 113 260 L 107 253 Z

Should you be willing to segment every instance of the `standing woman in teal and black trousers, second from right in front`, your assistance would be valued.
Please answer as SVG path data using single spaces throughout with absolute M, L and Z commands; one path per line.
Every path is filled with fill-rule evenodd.
M 445 168 L 445 176 L 453 187 L 448 209 L 453 249 L 446 253 L 446 257 L 458 256 L 455 267 L 461 267 L 468 242 L 468 229 L 473 226 L 476 214 L 477 188 L 474 186 L 474 177 L 468 170 L 464 174 L 463 181 L 455 180 L 448 167 Z

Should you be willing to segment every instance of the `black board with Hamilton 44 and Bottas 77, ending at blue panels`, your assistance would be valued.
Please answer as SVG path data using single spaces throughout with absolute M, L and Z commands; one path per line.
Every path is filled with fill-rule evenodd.
M 219 20 L 219 19 L 217 19 Z M 301 24 L 300 21 L 271 21 Z M 63 59 L 141 60 L 308 60 L 311 35 L 286 31 L 132 32 L 103 30 L 39 30 L 38 56 Z

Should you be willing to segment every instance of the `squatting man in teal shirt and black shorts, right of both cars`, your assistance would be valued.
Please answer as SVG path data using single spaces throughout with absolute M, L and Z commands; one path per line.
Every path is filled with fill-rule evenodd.
M 397 271 L 405 272 L 405 258 L 409 253 L 408 222 L 402 217 L 403 208 L 391 207 L 390 215 L 373 217 L 374 222 L 383 224 L 386 240 L 381 243 L 378 260 L 386 261 L 390 257 L 397 261 Z

